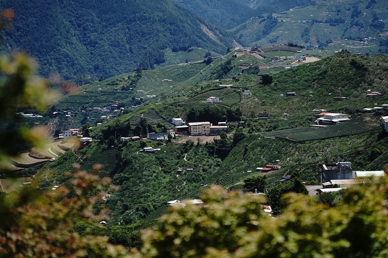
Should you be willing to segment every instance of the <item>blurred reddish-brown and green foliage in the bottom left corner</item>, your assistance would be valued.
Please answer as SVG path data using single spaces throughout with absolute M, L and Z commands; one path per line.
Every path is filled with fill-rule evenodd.
M 36 188 L 0 194 L 0 257 L 120 257 L 123 246 L 108 243 L 108 237 L 85 232 L 80 221 L 94 223 L 109 219 L 96 202 L 110 179 L 99 179 L 98 166 L 90 172 L 79 169 L 72 175 L 72 189 L 59 187 L 42 194 Z M 98 190 L 95 196 L 91 191 Z M 99 226 L 102 228 L 102 226 Z

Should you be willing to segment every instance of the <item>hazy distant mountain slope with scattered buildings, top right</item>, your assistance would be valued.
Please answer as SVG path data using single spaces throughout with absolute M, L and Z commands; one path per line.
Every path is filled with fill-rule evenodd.
M 357 40 L 361 53 L 387 52 L 388 10 L 385 2 L 375 0 L 315 1 L 315 5 L 258 15 L 230 30 L 245 46 L 287 44 L 326 47 L 341 40 Z M 365 38 L 369 39 L 368 43 Z M 367 43 L 367 44 L 365 44 Z M 360 45 L 362 44 L 362 45 Z M 364 47 L 361 47 L 364 46 Z

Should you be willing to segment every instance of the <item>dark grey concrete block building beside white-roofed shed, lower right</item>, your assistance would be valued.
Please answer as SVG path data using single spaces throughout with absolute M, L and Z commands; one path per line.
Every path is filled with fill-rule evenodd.
M 329 182 L 330 180 L 353 179 L 353 170 L 350 162 L 339 162 L 336 164 L 322 165 L 321 181 Z

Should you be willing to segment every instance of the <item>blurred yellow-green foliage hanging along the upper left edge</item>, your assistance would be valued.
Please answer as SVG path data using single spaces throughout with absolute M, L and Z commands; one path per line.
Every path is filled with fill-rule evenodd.
M 0 31 L 11 27 L 12 10 L 0 13 Z M 51 103 L 55 91 L 47 82 L 36 76 L 36 64 L 26 54 L 0 54 L 0 161 L 16 154 L 22 148 L 42 143 L 45 130 L 29 129 L 17 110 L 28 107 L 44 110 Z

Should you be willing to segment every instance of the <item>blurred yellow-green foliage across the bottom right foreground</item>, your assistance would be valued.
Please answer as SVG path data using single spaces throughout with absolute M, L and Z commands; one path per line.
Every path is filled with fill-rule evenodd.
M 263 215 L 259 196 L 212 186 L 207 207 L 186 206 L 143 233 L 140 257 L 387 257 L 385 182 L 349 188 L 336 208 L 289 193 L 278 217 Z

